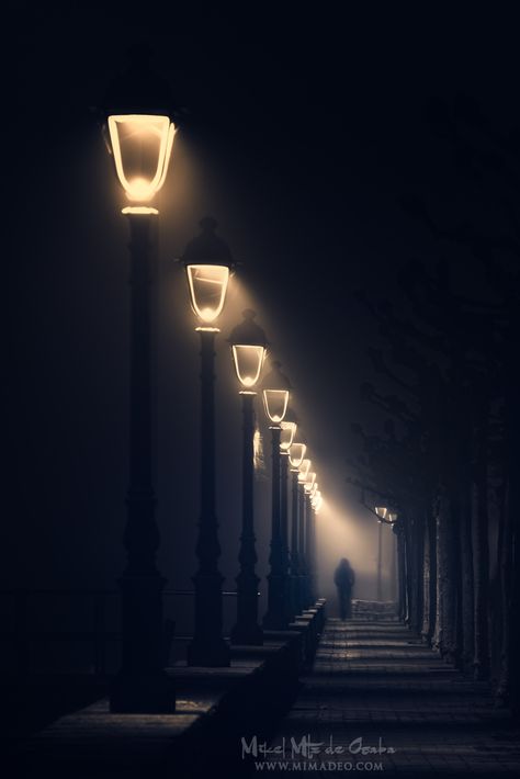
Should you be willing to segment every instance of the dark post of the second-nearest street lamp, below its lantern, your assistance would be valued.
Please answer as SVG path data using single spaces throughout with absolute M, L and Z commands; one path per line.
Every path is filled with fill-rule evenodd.
M 199 327 L 201 337 L 201 513 L 196 556 L 193 640 L 188 665 L 229 665 L 229 646 L 222 635 L 222 584 L 218 571 L 221 544 L 215 509 L 215 336 L 217 328 Z

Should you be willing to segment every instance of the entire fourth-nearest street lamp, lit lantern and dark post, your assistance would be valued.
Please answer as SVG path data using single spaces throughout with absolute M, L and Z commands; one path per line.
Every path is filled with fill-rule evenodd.
M 271 553 L 269 555 L 268 610 L 263 617 L 263 628 L 267 630 L 283 630 L 289 624 L 289 561 L 281 526 L 280 442 L 281 422 L 287 410 L 291 384 L 280 369 L 281 363 L 273 362 L 272 371 L 263 382 L 263 404 L 268 419 L 271 421 L 272 433 Z

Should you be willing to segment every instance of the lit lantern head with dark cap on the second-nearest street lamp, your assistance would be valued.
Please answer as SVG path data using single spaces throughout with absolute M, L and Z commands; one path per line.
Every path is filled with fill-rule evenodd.
M 202 323 L 212 325 L 222 314 L 226 301 L 233 257 L 227 244 L 215 235 L 217 222 L 206 216 L 199 223 L 202 233 L 191 240 L 182 256 L 193 312 Z M 214 328 L 217 329 L 217 328 Z

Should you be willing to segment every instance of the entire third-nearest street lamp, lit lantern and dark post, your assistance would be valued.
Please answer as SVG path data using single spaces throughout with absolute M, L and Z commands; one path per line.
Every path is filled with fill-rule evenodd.
M 233 362 L 240 382 L 242 398 L 242 529 L 238 561 L 237 621 L 231 631 L 234 644 L 262 644 L 263 631 L 258 624 L 258 583 L 255 537 L 255 386 L 265 358 L 267 338 L 255 321 L 256 313 L 244 312 L 244 321 L 228 338 Z

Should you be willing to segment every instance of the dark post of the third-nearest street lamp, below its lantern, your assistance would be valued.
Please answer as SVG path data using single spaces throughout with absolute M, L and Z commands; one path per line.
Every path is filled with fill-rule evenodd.
M 263 644 L 263 631 L 258 624 L 258 584 L 255 537 L 255 394 L 240 393 L 242 398 L 242 530 L 238 561 L 237 622 L 231 631 L 234 644 Z

